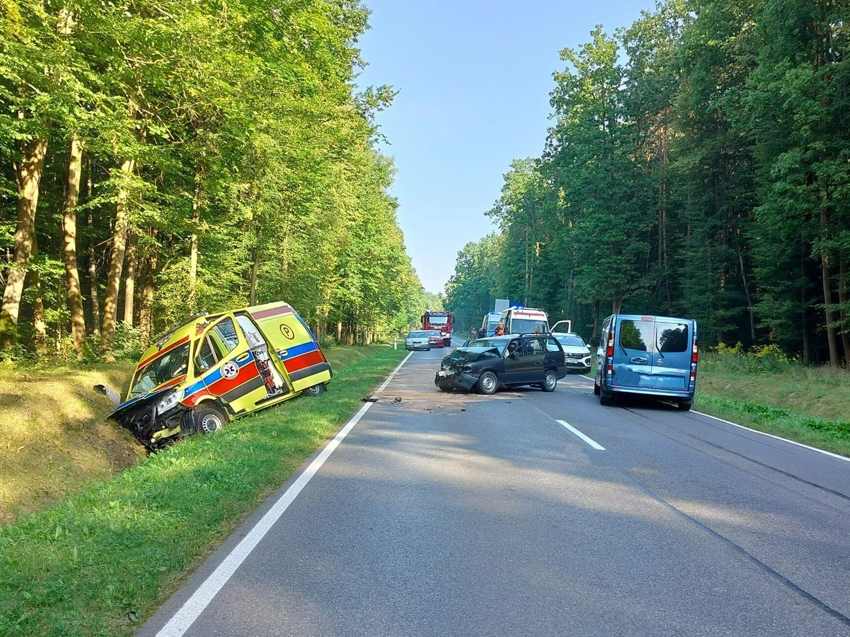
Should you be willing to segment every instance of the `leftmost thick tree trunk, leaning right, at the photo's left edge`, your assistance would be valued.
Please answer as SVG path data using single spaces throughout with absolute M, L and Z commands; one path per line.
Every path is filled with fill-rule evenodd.
M 17 341 L 20 297 L 24 292 L 24 279 L 35 237 L 38 184 L 44 170 L 48 143 L 46 139 L 36 139 L 29 145 L 22 144 L 21 150 L 23 156 L 14 165 L 18 183 L 18 226 L 14 231 L 12 267 L 8 271 L 0 306 L 0 350 L 13 347 Z

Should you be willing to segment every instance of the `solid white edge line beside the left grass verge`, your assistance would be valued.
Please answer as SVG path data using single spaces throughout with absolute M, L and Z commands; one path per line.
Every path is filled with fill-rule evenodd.
M 396 375 L 401 369 L 401 366 L 407 362 L 408 358 L 411 358 L 411 352 L 408 354 L 404 360 L 399 363 L 399 365 L 393 370 L 393 372 L 388 375 L 387 380 L 383 381 L 382 386 L 378 389 L 378 392 L 382 392 L 383 389 L 386 388 L 389 381 L 393 380 L 394 375 Z M 348 420 L 348 423 L 337 433 L 333 440 L 327 444 L 326 448 L 322 449 L 321 453 L 316 456 L 313 462 L 307 467 L 304 472 L 298 476 L 295 482 L 292 482 L 292 486 L 280 496 L 280 498 L 272 505 L 271 509 L 269 509 L 266 514 L 254 525 L 251 531 L 242 538 L 242 541 L 239 544 L 236 544 L 234 550 L 230 551 L 227 557 L 224 558 L 219 564 L 218 567 L 210 574 L 210 576 L 201 583 L 192 596 L 184 602 L 183 606 L 180 606 L 178 612 L 174 613 L 174 616 L 168 620 L 165 626 L 163 626 L 160 631 L 156 634 L 156 637 L 182 637 L 182 635 L 189 629 L 192 623 L 195 622 L 201 612 L 207 608 L 207 605 L 212 601 L 212 598 L 218 593 L 219 590 L 222 589 L 225 583 L 231 578 L 233 573 L 236 572 L 236 569 L 240 567 L 241 563 L 245 561 L 248 555 L 251 555 L 251 551 L 259 544 L 260 540 L 263 539 L 266 533 L 269 533 L 269 529 L 275 526 L 275 522 L 278 521 L 280 516 L 283 515 L 283 512 L 292 504 L 292 501 L 297 497 L 298 493 L 301 493 L 301 490 L 307 486 L 307 483 L 310 482 L 310 478 L 312 478 L 316 471 L 319 471 L 321 465 L 325 464 L 325 460 L 330 457 L 330 455 L 334 452 L 339 446 L 339 443 L 343 442 L 343 438 L 348 435 L 348 431 L 351 431 L 354 428 L 360 419 L 363 417 L 373 403 L 365 403 L 363 407 L 358 410 L 356 414 L 352 417 L 351 420 Z

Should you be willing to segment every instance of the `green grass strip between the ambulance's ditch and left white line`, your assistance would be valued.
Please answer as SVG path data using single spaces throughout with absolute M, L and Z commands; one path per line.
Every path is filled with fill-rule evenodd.
M 320 397 L 189 437 L 0 528 L 0 634 L 132 634 L 405 355 L 360 350 L 346 366 L 331 348 Z

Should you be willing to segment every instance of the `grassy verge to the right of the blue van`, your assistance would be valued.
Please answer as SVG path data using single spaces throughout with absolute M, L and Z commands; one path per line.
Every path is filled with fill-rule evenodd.
M 700 357 L 694 409 L 850 456 L 850 373 L 807 367 L 773 350 Z

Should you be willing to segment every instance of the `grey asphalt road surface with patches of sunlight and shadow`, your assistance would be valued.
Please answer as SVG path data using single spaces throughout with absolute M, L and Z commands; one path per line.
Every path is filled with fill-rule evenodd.
M 195 622 L 161 635 L 850 634 L 850 462 L 662 403 L 601 407 L 580 376 L 443 394 L 445 353 L 415 352 Z

